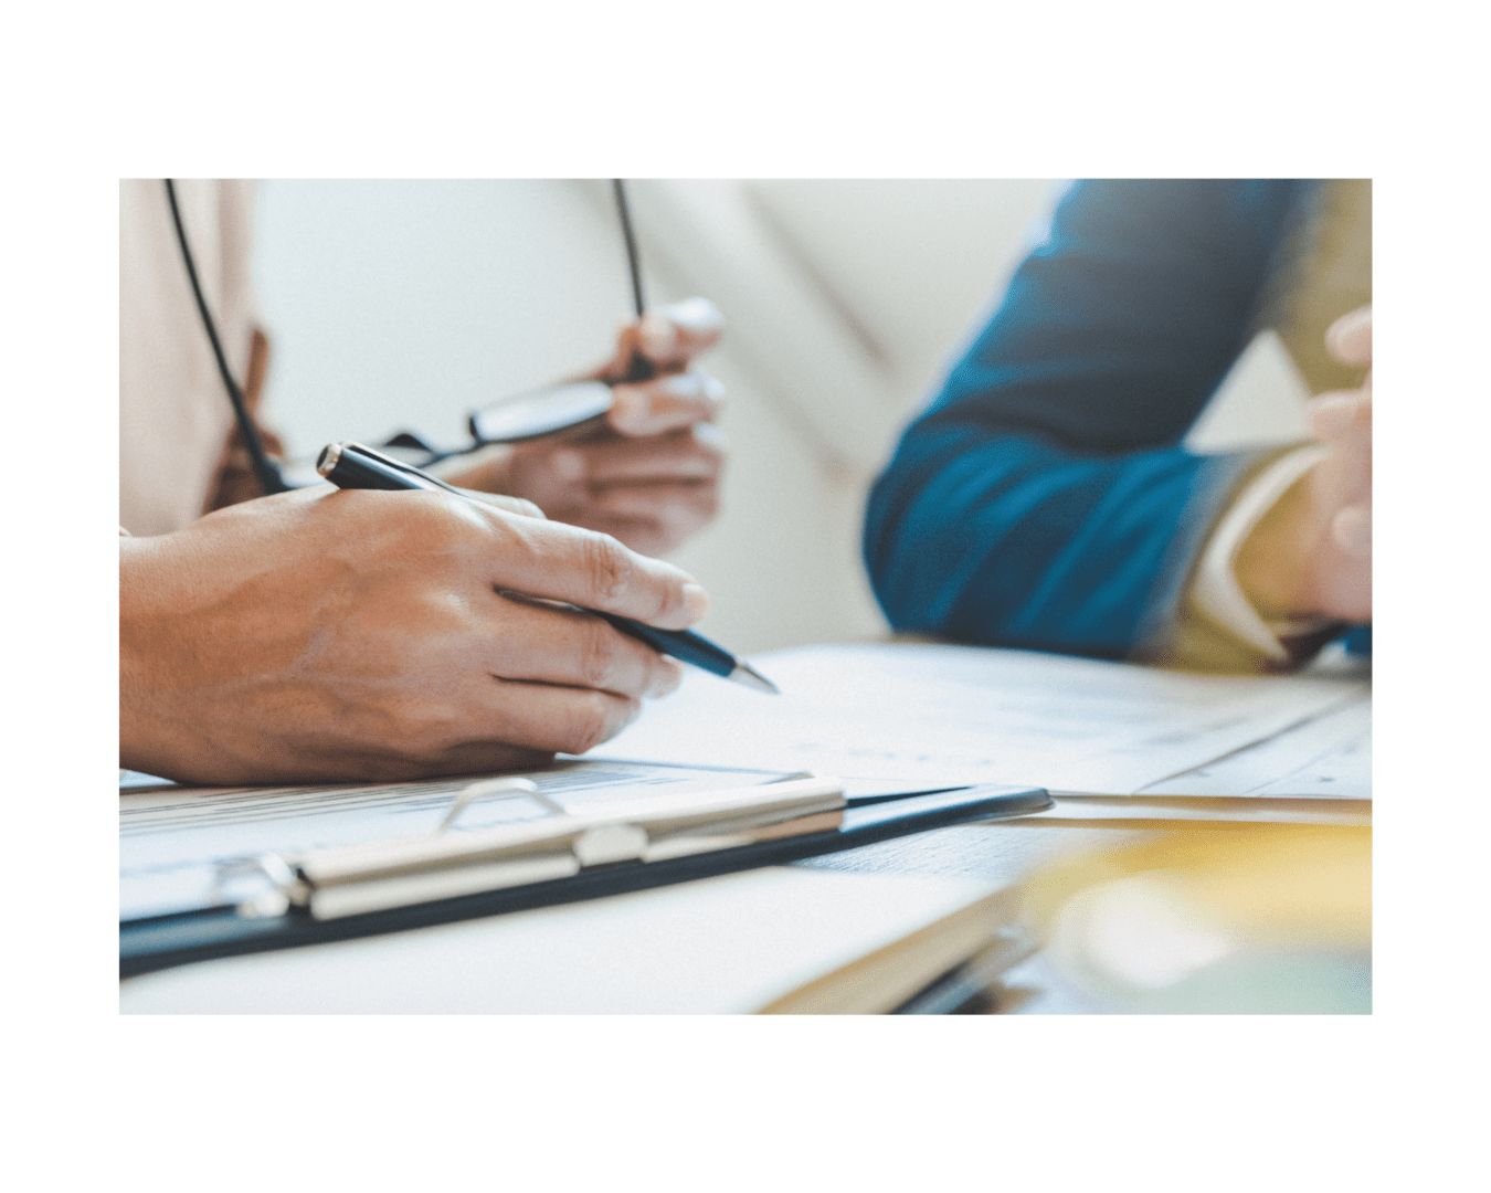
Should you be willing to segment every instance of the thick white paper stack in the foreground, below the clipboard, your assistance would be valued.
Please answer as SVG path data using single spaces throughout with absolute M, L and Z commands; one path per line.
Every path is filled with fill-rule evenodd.
M 136 1014 L 869 1014 L 1030 951 L 1012 890 L 771 866 L 130 978 Z

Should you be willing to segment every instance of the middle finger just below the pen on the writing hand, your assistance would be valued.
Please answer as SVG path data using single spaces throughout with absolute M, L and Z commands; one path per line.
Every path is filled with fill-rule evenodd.
M 497 594 L 492 632 L 479 649 L 499 680 L 592 687 L 620 696 L 663 696 L 681 680 L 663 658 L 593 613 Z

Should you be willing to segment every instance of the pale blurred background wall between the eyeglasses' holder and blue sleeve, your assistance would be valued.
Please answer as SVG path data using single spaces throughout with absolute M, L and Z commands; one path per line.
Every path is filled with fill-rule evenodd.
M 1050 180 L 629 183 L 649 306 L 713 298 L 722 513 L 671 558 L 751 653 L 886 632 L 869 482 L 1033 240 Z M 264 182 L 255 279 L 268 418 L 292 455 L 465 416 L 611 352 L 631 315 L 605 180 Z

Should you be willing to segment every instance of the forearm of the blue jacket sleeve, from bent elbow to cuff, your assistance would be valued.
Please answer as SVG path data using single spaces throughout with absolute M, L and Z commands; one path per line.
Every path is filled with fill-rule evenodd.
M 871 579 L 901 629 L 1127 658 L 1173 617 L 1217 507 L 1248 464 L 914 428 L 871 495 Z

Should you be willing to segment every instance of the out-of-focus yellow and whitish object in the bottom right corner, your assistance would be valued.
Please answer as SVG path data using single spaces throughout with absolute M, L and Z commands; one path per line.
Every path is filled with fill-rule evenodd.
M 1036 871 L 1024 914 L 1112 1010 L 1372 1010 L 1370 828 L 1169 831 Z

